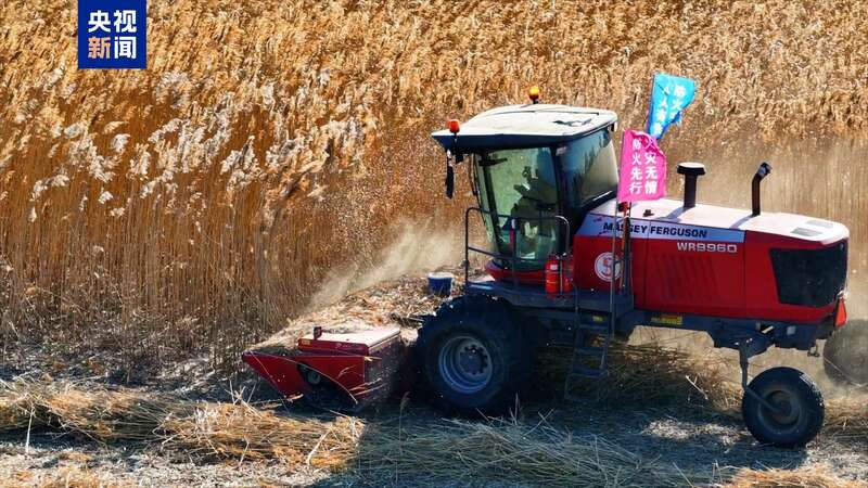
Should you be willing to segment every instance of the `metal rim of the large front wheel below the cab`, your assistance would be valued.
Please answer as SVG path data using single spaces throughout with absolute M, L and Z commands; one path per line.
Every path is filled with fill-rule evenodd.
M 437 363 L 443 380 L 462 394 L 480 391 L 492 381 L 488 349 L 470 335 L 450 337 L 441 348 Z

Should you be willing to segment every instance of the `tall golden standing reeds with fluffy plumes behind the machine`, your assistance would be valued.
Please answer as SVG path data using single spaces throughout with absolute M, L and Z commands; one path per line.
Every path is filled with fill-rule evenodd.
M 866 17 L 841 0 L 152 1 L 148 69 L 79 72 L 76 2 L 7 0 L 0 341 L 235 364 L 407 222 L 458 235 L 468 188 L 442 196 L 429 138 L 445 119 L 538 84 L 641 128 L 655 70 L 699 84 L 663 149 L 709 164 L 700 201 L 746 206 L 767 158 L 767 207 L 843 221 L 868 273 Z

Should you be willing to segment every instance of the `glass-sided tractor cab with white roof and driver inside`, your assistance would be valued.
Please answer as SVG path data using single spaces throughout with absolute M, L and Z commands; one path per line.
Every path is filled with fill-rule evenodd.
M 471 165 L 495 279 L 541 284 L 548 257 L 570 254 L 585 215 L 614 198 L 616 120 L 596 108 L 511 105 L 432 134 Z

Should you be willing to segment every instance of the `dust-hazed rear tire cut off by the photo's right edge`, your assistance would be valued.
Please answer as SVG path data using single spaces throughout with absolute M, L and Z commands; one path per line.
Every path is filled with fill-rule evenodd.
M 838 383 L 868 385 L 868 321 L 851 320 L 826 341 L 822 368 Z

